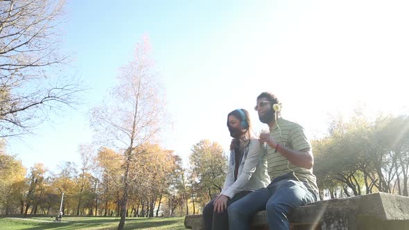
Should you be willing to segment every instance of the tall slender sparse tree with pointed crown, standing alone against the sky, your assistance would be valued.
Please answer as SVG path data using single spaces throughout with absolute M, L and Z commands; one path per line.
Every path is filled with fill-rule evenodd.
M 164 124 L 164 100 L 160 83 L 152 73 L 148 39 L 137 44 L 134 59 L 121 69 L 119 84 L 105 105 L 92 111 L 91 123 L 97 138 L 123 150 L 123 196 L 121 221 L 123 229 L 130 186 L 130 164 L 137 157 L 138 146 L 153 139 Z

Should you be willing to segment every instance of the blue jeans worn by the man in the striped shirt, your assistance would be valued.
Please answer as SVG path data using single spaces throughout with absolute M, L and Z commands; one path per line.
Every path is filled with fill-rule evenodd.
M 250 220 L 266 210 L 269 229 L 290 229 L 288 213 L 297 206 L 317 201 L 317 194 L 293 175 L 276 177 L 267 186 L 231 204 L 227 209 L 229 229 L 250 229 Z

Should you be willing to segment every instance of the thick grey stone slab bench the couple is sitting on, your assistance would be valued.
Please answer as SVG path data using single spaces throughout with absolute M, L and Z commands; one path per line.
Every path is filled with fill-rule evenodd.
M 299 206 L 288 216 L 291 229 L 409 230 L 409 197 L 372 193 Z M 202 215 L 186 215 L 187 229 L 204 229 Z M 266 212 L 256 213 L 252 229 L 268 229 Z

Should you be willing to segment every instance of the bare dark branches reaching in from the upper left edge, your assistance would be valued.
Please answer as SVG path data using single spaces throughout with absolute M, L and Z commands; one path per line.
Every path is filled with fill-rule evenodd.
M 30 132 L 80 91 L 62 80 L 69 57 L 59 52 L 64 6 L 64 0 L 0 1 L 1 137 Z

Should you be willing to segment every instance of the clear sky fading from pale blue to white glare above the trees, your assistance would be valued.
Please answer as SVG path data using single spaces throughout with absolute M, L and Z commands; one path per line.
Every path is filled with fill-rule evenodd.
M 311 136 L 329 114 L 358 105 L 408 114 L 408 1 L 69 1 L 62 50 L 74 53 L 69 73 L 90 88 L 82 105 L 51 117 L 8 151 L 30 168 L 79 163 L 78 145 L 92 142 L 89 109 L 114 85 L 134 45 L 146 34 L 166 90 L 172 123 L 163 146 L 187 163 L 200 139 L 227 150 L 225 125 L 271 91 L 282 115 Z

